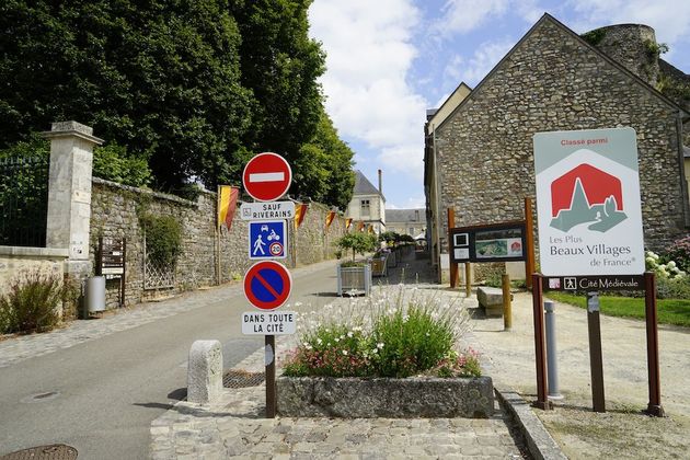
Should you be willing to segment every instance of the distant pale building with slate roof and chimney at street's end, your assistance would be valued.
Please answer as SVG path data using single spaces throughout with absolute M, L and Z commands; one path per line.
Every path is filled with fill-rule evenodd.
M 372 226 L 377 234 L 386 231 L 386 197 L 381 188 L 381 170 L 378 189 L 361 171 L 355 171 L 355 188 L 345 216 L 353 219 L 355 229 L 363 222 L 365 229 Z

